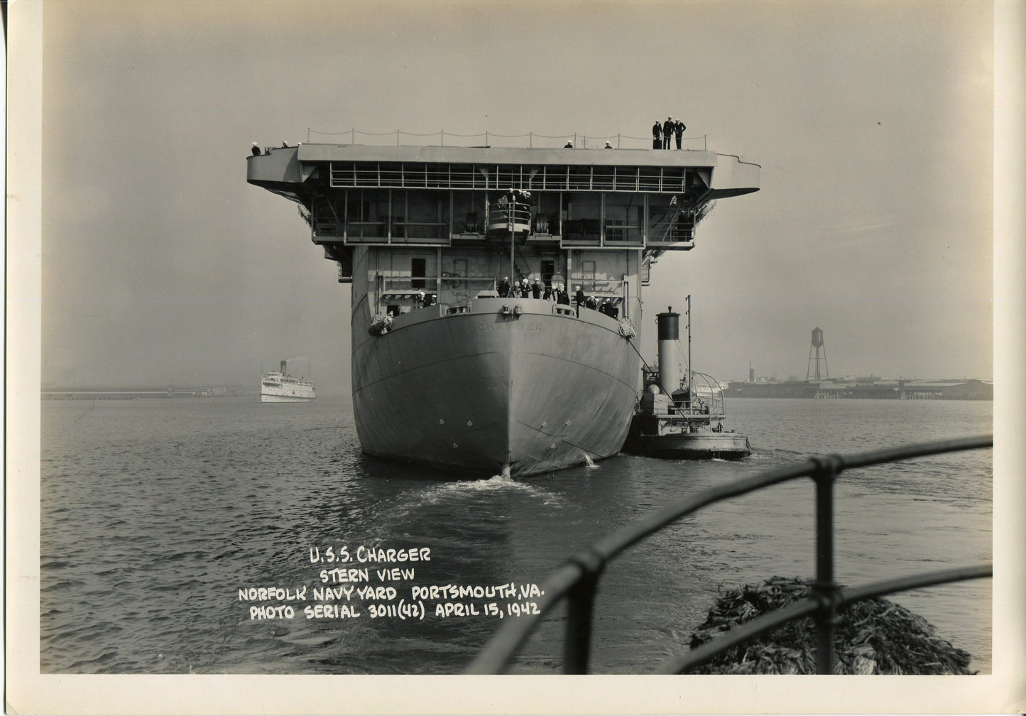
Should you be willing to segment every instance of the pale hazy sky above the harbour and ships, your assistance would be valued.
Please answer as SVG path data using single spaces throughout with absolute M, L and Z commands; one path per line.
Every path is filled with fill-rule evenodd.
M 832 376 L 990 377 L 992 40 L 990 2 L 50 0 L 42 379 L 348 391 L 349 285 L 252 142 L 667 115 L 762 167 L 643 293 L 693 295 L 697 369 L 803 379 L 819 326 Z

